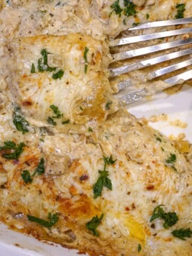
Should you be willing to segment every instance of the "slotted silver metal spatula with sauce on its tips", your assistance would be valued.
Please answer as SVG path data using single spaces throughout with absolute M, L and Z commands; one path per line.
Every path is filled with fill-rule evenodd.
M 165 20 L 165 21 L 155 21 L 155 22 L 148 22 L 141 24 L 137 27 L 130 28 L 129 30 L 126 31 L 127 34 L 129 34 L 130 31 L 132 30 L 143 30 L 144 29 L 151 29 L 151 28 L 161 28 L 165 26 L 173 26 L 173 25 L 183 25 L 183 24 L 190 24 L 192 23 L 192 18 L 184 18 L 184 19 L 174 19 L 174 20 Z M 170 36 L 177 36 L 177 35 L 184 35 L 184 34 L 190 34 L 192 33 L 192 27 L 187 27 L 187 28 L 179 28 L 179 29 L 174 29 L 174 30 L 169 30 L 169 31 L 162 31 L 162 32 L 157 32 L 153 34 L 145 34 L 145 35 L 138 35 L 138 36 L 130 36 L 130 37 L 124 37 L 124 38 L 118 38 L 114 39 L 113 41 L 110 41 L 110 47 L 114 46 L 121 46 L 121 45 L 127 45 L 127 44 L 134 44 L 134 43 L 139 43 L 139 42 L 145 42 L 145 41 L 150 41 L 153 39 L 157 38 L 165 38 L 165 37 L 170 37 Z M 191 44 L 191 47 L 190 47 Z M 178 50 L 179 47 L 189 45 L 187 49 L 184 50 Z M 175 51 L 174 49 L 176 49 Z M 163 50 L 171 50 L 171 53 L 168 54 L 163 54 Z M 109 69 L 110 71 L 110 77 L 115 77 L 119 76 L 125 73 L 129 73 L 130 71 L 133 70 L 139 70 L 142 68 L 146 68 L 152 65 L 156 65 L 158 63 L 162 63 L 165 61 L 173 60 L 175 59 L 175 64 L 166 66 L 164 68 L 160 68 L 157 70 L 152 71 L 151 73 L 148 74 L 148 81 L 151 79 L 154 79 L 156 77 L 171 73 L 172 71 L 189 67 L 192 65 L 192 56 L 190 55 L 192 53 L 192 37 L 188 37 L 186 39 L 180 39 L 177 41 L 172 41 L 168 43 L 160 43 L 157 45 L 152 45 L 152 46 L 147 46 L 147 47 L 142 47 L 139 49 L 134 49 L 134 50 L 129 50 L 129 51 L 124 51 L 124 52 L 119 52 L 115 53 L 112 55 L 113 57 L 113 62 L 120 61 L 120 60 L 126 60 L 134 57 L 140 57 L 142 55 L 148 55 L 150 53 L 155 53 L 158 51 L 162 51 L 162 55 L 158 55 L 158 57 L 155 58 L 143 58 L 141 61 L 135 61 L 131 63 L 130 65 L 126 66 L 121 66 L 118 68 L 111 68 Z M 176 60 L 177 58 L 180 57 L 189 57 L 185 61 L 178 62 Z M 146 56 L 145 56 L 146 57 Z M 134 60 L 134 59 L 133 59 Z M 185 71 L 183 73 L 180 73 L 175 76 L 171 76 L 170 78 L 167 78 L 164 80 L 165 83 L 167 83 L 167 88 L 183 83 L 187 81 L 188 79 L 192 78 L 192 66 L 191 69 L 188 71 Z M 128 94 L 123 93 L 123 89 L 126 89 L 129 86 L 133 86 L 134 81 L 132 79 L 126 79 L 124 81 L 121 81 L 117 84 L 118 91 L 121 93 L 117 93 L 116 97 L 120 100 L 123 101 L 124 103 L 128 104 L 131 102 L 134 102 L 136 100 L 141 99 L 142 97 L 145 97 L 146 95 L 149 95 L 149 93 L 146 91 L 145 88 L 142 89 L 137 89 L 133 90 Z M 118 95 L 120 94 L 120 97 Z

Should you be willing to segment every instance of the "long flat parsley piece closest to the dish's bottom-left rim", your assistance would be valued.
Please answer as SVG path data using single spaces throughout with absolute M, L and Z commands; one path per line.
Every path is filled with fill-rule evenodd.
M 27 219 L 30 220 L 30 221 L 36 222 L 37 224 L 39 224 L 43 227 L 51 228 L 59 220 L 59 217 L 58 217 L 57 213 L 52 214 L 52 213 L 49 212 L 49 214 L 48 214 L 49 221 L 31 216 L 31 215 L 28 215 L 28 214 L 27 214 Z

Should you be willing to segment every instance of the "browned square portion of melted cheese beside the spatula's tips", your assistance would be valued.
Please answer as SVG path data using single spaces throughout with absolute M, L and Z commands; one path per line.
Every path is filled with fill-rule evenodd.
M 105 118 L 106 104 L 111 101 L 110 86 L 104 73 L 106 63 L 102 63 L 103 46 L 99 41 L 80 34 L 36 36 L 19 38 L 10 47 L 13 51 L 10 89 L 15 103 L 21 106 L 26 116 L 45 126 L 47 118 L 54 116 L 50 108 L 54 105 L 70 122 L 83 123 L 95 116 Z M 85 47 L 89 50 L 86 74 Z M 43 73 L 38 70 L 43 49 L 49 52 L 49 66 L 57 67 L 57 70 Z M 35 73 L 30 73 L 32 64 Z M 63 70 L 64 75 L 54 79 L 53 74 L 59 70 Z

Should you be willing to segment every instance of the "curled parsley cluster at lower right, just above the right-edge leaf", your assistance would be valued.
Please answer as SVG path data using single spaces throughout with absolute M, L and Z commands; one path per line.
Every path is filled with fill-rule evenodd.
M 175 223 L 179 220 L 179 218 L 175 212 L 166 213 L 161 206 L 163 206 L 163 204 L 155 207 L 155 209 L 153 211 L 153 215 L 150 218 L 150 222 L 152 222 L 153 220 L 155 220 L 157 218 L 161 218 L 165 221 L 163 223 L 163 227 L 167 229 L 167 228 L 175 225 Z

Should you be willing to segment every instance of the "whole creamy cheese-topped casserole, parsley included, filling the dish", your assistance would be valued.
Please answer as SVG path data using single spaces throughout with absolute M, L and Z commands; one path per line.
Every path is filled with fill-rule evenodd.
M 184 0 L 0 0 L 2 222 L 94 256 L 192 255 L 191 145 L 119 106 L 107 70 L 109 39 L 191 10 Z M 146 73 L 128 76 L 141 86 Z

